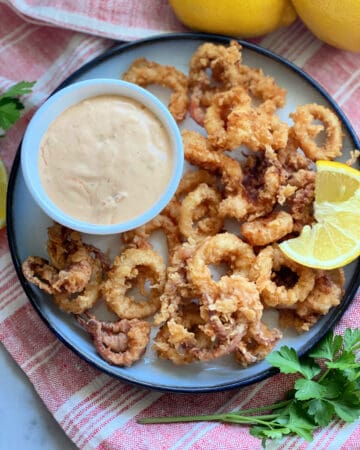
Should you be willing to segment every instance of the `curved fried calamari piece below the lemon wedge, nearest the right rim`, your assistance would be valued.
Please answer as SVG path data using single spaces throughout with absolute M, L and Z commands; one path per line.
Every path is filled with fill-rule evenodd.
M 280 311 L 280 326 L 293 327 L 298 333 L 308 331 L 321 316 L 340 304 L 344 293 L 345 276 L 342 269 L 316 272 L 315 286 L 306 299 L 294 310 Z

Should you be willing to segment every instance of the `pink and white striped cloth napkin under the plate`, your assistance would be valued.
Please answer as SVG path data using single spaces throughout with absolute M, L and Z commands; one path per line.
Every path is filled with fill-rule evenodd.
M 0 157 L 7 168 L 35 108 L 69 74 L 113 43 L 105 38 L 132 40 L 169 31 L 184 28 L 166 0 L 0 0 L 0 92 L 16 81 L 37 80 L 23 118 L 1 140 Z M 321 43 L 300 22 L 257 42 L 316 78 L 360 134 L 360 54 Z M 337 331 L 359 327 L 359 317 L 358 295 Z M 141 426 L 136 418 L 260 406 L 280 399 L 289 388 L 287 378 L 277 375 L 241 390 L 163 394 L 99 372 L 58 341 L 33 310 L 12 267 L 6 230 L 0 233 L 0 339 L 82 449 L 260 449 L 259 440 L 245 428 L 215 423 Z M 358 449 L 359 441 L 359 422 L 335 422 L 319 431 L 311 445 L 289 437 L 269 448 L 349 450 Z

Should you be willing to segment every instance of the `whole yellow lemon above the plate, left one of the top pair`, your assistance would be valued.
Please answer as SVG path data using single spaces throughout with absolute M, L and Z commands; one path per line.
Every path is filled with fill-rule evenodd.
M 290 25 L 296 13 L 290 0 L 169 0 L 189 28 L 237 37 L 255 37 Z

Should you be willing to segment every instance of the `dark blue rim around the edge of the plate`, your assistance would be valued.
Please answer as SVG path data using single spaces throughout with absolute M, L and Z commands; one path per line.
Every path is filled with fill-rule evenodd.
M 82 74 L 86 73 L 89 69 L 97 66 L 99 63 L 115 56 L 119 55 L 121 53 L 126 52 L 127 50 L 132 50 L 136 47 L 146 46 L 146 45 L 152 45 L 160 41 L 187 41 L 187 40 L 197 40 L 197 41 L 209 41 L 209 42 L 215 42 L 219 44 L 227 44 L 232 40 L 233 38 L 221 36 L 221 35 L 213 35 L 213 34 L 203 34 L 203 33 L 172 33 L 172 34 L 165 34 L 165 35 L 159 35 L 155 37 L 145 38 L 141 40 L 137 40 L 134 42 L 126 42 L 126 43 L 117 43 L 114 47 L 112 47 L 110 50 L 104 52 L 103 54 L 97 56 L 90 62 L 84 64 L 82 67 L 80 67 L 78 70 L 76 70 L 72 75 L 70 75 L 65 81 L 63 81 L 51 94 L 53 95 L 55 92 L 57 92 L 59 89 L 62 89 L 63 87 L 71 84 L 77 77 L 81 76 Z M 270 50 L 267 50 L 257 44 L 253 44 L 247 41 L 237 40 L 244 48 L 248 50 L 252 50 L 256 53 L 259 53 L 263 56 L 266 56 L 270 59 L 273 59 L 277 62 L 280 62 L 287 66 L 292 71 L 296 72 L 298 75 L 300 75 L 302 78 L 304 78 L 309 84 L 311 84 L 320 94 L 329 102 L 331 107 L 336 111 L 338 116 L 340 117 L 343 126 L 347 129 L 351 139 L 353 140 L 354 147 L 353 148 L 360 148 L 360 139 L 356 136 L 356 133 L 344 114 L 344 112 L 341 110 L 341 108 L 336 104 L 336 102 L 333 100 L 333 98 L 330 96 L 330 94 L 317 82 L 315 81 L 309 74 L 304 72 L 302 69 L 300 69 L 298 66 L 296 66 L 291 61 L 287 60 L 286 58 L 277 55 L 273 53 Z M 7 233 L 8 233 L 8 241 L 9 241 L 9 248 L 10 248 L 10 254 L 12 257 L 13 264 L 15 266 L 15 270 L 17 273 L 17 276 L 20 280 L 20 283 L 30 301 L 34 309 L 37 311 L 41 319 L 44 321 L 44 323 L 49 327 L 49 329 L 56 335 L 56 337 L 63 342 L 70 350 L 72 350 L 76 355 L 78 355 L 80 358 L 91 364 L 93 367 L 96 367 L 98 370 L 107 373 L 108 375 L 115 377 L 121 381 L 146 388 L 151 390 L 158 390 L 162 392 L 172 392 L 172 393 L 210 393 L 210 392 L 221 392 L 236 388 L 241 388 L 245 386 L 249 386 L 253 383 L 262 381 L 266 378 L 269 378 L 273 376 L 274 374 L 278 373 L 277 369 L 274 368 L 268 368 L 265 369 L 256 375 L 248 377 L 246 380 L 241 380 L 238 382 L 231 382 L 231 383 L 223 383 L 216 386 L 210 386 L 210 387 L 172 387 L 169 388 L 168 386 L 162 386 L 162 385 L 153 385 L 151 383 L 145 383 L 145 382 L 139 382 L 137 380 L 133 380 L 131 378 L 126 378 L 124 376 L 121 376 L 119 374 L 113 373 L 110 369 L 104 368 L 97 364 L 95 361 L 89 359 L 88 357 L 84 356 L 76 347 L 74 347 L 72 344 L 70 344 L 66 339 L 59 334 L 52 324 L 43 316 L 41 309 L 38 307 L 37 303 L 33 300 L 33 291 L 30 286 L 30 283 L 27 282 L 25 277 L 23 276 L 22 270 L 21 270 L 21 263 L 22 261 L 19 258 L 19 253 L 17 251 L 17 242 L 16 242 L 16 233 L 15 233 L 15 227 L 14 227 L 14 190 L 16 185 L 16 180 L 18 177 L 18 173 L 20 170 L 20 152 L 21 152 L 21 144 L 17 150 L 14 163 L 10 172 L 9 177 L 9 183 L 8 183 L 8 192 L 7 192 L 7 207 L 6 207 L 6 225 L 7 225 Z M 345 313 L 347 307 L 350 305 L 351 301 L 353 300 L 356 291 L 360 285 L 360 259 L 358 259 L 356 268 L 354 270 L 354 275 L 349 283 L 349 286 L 344 294 L 343 301 L 341 304 L 333 309 L 327 316 L 327 320 L 322 326 L 322 328 L 319 330 L 319 332 L 316 334 L 314 339 L 311 342 L 306 343 L 303 347 L 301 347 L 300 351 L 298 351 L 299 356 L 302 356 L 306 354 L 311 348 L 314 347 L 314 345 L 319 342 L 319 340 L 340 320 L 342 315 Z M 109 365 L 109 367 L 111 367 Z

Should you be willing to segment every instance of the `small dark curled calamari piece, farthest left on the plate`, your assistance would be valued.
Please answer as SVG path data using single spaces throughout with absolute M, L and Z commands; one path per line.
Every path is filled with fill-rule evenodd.
M 22 272 L 24 277 L 37 287 L 54 294 L 53 285 L 58 280 L 59 271 L 55 267 L 49 265 L 49 262 L 39 256 L 29 256 L 22 264 Z

